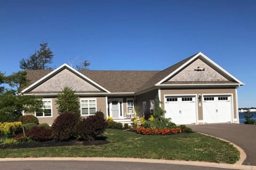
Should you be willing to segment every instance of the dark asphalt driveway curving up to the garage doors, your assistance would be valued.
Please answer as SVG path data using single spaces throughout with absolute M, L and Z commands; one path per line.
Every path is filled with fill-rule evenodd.
M 194 132 L 210 134 L 226 139 L 244 149 L 247 158 L 243 165 L 256 166 L 256 125 L 247 124 L 205 124 L 188 125 Z

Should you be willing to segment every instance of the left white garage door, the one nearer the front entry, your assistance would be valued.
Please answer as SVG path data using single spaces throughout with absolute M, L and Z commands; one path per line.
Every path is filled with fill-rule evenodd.
M 196 97 L 195 96 L 166 96 L 165 117 L 171 118 L 175 124 L 196 123 Z

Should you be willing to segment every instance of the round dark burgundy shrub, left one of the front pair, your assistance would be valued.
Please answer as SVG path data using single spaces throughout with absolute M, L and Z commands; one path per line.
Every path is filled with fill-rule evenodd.
M 61 113 L 52 124 L 53 137 L 56 140 L 67 141 L 75 132 L 76 125 L 79 121 L 79 115 L 65 112 Z

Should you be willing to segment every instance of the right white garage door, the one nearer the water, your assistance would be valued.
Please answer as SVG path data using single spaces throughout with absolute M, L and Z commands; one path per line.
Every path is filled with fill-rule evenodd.
M 203 120 L 204 123 L 230 123 L 231 96 L 203 96 Z

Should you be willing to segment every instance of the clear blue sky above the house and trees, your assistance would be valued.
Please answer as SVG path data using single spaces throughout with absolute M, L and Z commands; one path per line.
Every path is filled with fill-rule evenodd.
M 0 71 L 40 43 L 52 66 L 90 70 L 163 70 L 202 52 L 246 83 L 239 107 L 256 106 L 256 1 L 0 1 Z

